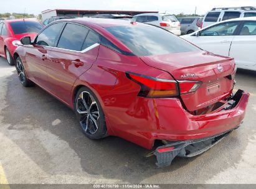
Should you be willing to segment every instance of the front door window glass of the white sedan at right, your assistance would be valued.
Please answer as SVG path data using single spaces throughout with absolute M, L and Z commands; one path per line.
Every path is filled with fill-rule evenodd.
M 233 35 L 239 22 L 225 22 L 214 25 L 200 32 L 200 36 L 224 36 Z

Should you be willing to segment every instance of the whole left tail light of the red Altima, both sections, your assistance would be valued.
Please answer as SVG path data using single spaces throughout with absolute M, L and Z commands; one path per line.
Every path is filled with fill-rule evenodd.
M 130 72 L 126 72 L 126 76 L 141 86 L 138 96 L 146 98 L 168 98 L 192 93 L 201 85 L 201 81 L 166 80 Z

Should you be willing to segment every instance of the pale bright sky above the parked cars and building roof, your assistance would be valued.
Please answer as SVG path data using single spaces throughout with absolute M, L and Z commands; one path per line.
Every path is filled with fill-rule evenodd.
M 171 14 L 205 14 L 213 7 L 255 6 L 256 0 L 0 0 L 0 13 L 40 14 L 46 9 L 159 11 Z

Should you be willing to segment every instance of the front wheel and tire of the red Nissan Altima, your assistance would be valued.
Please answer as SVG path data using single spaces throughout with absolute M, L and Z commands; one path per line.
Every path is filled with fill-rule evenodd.
M 21 81 L 23 86 L 34 86 L 34 83 L 27 78 L 26 71 L 20 57 L 16 58 L 16 70 L 19 76 L 19 81 Z

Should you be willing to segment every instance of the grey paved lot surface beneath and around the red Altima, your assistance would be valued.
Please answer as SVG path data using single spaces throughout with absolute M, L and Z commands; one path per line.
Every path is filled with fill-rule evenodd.
M 118 137 L 93 141 L 73 111 L 38 86 L 24 88 L 0 57 L 0 183 L 256 183 L 256 72 L 244 123 L 204 154 L 158 168 L 149 150 Z

